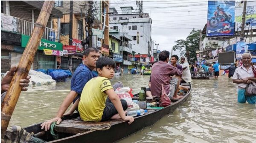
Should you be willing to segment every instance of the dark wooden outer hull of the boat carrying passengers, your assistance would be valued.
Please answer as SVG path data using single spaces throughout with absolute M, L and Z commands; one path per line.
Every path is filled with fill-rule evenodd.
M 191 85 L 190 85 L 190 88 L 191 88 Z M 113 143 L 135 132 L 140 131 L 144 127 L 153 125 L 154 123 L 159 121 L 161 118 L 163 118 L 165 115 L 168 115 L 174 112 L 177 107 L 179 107 L 189 98 L 190 92 L 191 92 L 191 89 L 189 90 L 188 93 L 186 93 L 186 95 L 182 99 L 180 99 L 179 101 L 176 101 L 175 103 L 172 103 L 171 105 L 163 109 L 134 118 L 134 122 L 131 123 L 130 125 L 128 125 L 127 121 L 121 121 L 116 124 L 113 124 L 110 129 L 105 131 L 91 130 L 88 132 L 71 135 L 69 137 L 64 137 L 65 133 L 59 133 L 59 136 L 64 138 L 61 138 L 58 140 L 52 140 L 52 141 L 49 141 L 49 143 Z M 40 124 L 30 126 L 25 129 L 27 132 L 34 132 L 34 133 L 41 131 Z M 47 135 L 47 136 L 50 136 L 50 135 Z

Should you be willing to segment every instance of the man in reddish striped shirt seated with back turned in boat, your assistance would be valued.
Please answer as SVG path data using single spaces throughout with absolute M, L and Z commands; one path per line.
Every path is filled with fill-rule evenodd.
M 169 64 L 169 51 L 162 51 L 159 54 L 159 62 L 152 66 L 151 70 L 151 93 L 153 96 L 160 97 L 162 84 L 169 98 L 179 99 L 182 96 L 177 95 L 178 87 L 180 85 L 180 77 L 182 71 L 177 67 Z M 171 75 L 174 75 L 171 79 Z

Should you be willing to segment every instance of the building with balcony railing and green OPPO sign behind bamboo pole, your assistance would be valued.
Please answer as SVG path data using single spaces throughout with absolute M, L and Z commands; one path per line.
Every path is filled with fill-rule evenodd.
M 17 66 L 32 34 L 34 24 L 40 14 L 43 1 L 1 1 L 1 72 Z M 62 12 L 52 8 L 31 69 L 57 67 L 56 56 L 62 51 L 60 31 L 52 28 L 54 18 L 62 17 Z M 46 55 L 44 51 L 50 51 Z

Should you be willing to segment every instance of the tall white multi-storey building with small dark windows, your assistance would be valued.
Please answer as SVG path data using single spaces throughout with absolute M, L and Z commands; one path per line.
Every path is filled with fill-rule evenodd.
M 153 44 L 151 39 L 152 20 L 148 14 L 133 14 L 130 12 L 118 14 L 115 8 L 110 8 L 110 12 L 111 10 L 113 14 L 109 14 L 110 29 L 118 29 L 120 32 L 132 36 L 132 41 L 129 42 L 132 45 L 132 50 L 136 52 L 135 54 L 153 55 L 153 48 L 151 46 Z

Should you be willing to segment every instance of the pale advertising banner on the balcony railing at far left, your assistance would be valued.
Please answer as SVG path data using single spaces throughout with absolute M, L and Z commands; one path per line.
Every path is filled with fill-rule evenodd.
M 17 31 L 17 18 L 9 15 L 1 14 L 1 30 Z

